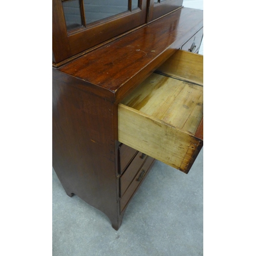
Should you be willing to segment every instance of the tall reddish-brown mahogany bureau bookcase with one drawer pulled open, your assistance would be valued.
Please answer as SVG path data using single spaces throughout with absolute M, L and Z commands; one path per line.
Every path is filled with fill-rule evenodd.
M 182 0 L 53 0 L 53 168 L 116 230 L 155 159 L 203 146 L 202 36 Z

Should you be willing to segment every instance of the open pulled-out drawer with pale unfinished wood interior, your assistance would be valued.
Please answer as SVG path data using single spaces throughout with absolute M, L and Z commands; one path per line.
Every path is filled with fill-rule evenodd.
M 118 140 L 188 173 L 203 146 L 203 56 L 178 50 L 124 98 Z

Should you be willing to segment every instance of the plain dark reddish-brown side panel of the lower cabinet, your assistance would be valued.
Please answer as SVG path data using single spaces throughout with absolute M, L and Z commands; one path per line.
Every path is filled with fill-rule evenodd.
M 114 106 L 63 76 L 53 78 L 54 170 L 68 195 L 116 219 Z

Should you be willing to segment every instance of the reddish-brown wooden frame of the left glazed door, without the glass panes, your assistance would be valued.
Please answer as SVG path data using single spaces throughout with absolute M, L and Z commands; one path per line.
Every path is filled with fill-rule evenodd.
M 67 32 L 61 0 L 53 0 L 53 52 L 56 62 L 146 23 L 147 2 L 142 10 L 127 11 L 86 27 Z

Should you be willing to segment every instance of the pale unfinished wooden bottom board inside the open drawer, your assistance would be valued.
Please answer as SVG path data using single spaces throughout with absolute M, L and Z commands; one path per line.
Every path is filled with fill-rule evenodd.
M 203 87 L 153 73 L 122 104 L 195 134 L 203 117 Z

